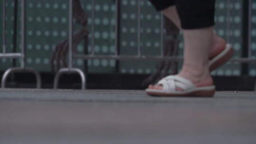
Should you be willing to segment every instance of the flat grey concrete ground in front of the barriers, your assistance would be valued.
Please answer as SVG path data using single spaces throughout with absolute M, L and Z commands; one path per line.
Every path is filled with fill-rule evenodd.
M 256 92 L 0 89 L 0 144 L 256 144 Z

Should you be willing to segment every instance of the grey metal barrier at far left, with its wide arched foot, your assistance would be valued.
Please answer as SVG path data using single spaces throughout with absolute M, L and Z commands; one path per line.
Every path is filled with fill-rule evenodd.
M 7 53 L 6 51 L 6 8 L 5 8 L 5 2 L 6 0 L 3 0 L 3 53 L 0 53 L 0 58 L 19 58 L 21 59 L 21 63 L 20 63 L 20 67 L 16 67 L 16 68 L 9 68 L 8 70 L 6 70 L 2 76 L 2 80 L 1 80 L 1 88 L 5 88 L 6 87 L 6 81 L 9 77 L 9 75 L 12 72 L 29 72 L 29 73 L 33 73 L 36 76 L 37 79 L 37 89 L 41 88 L 41 76 L 40 73 L 37 72 L 36 70 L 32 69 L 32 68 L 26 68 L 25 64 L 25 58 L 26 58 L 26 54 L 25 54 L 25 45 L 26 45 L 26 37 L 25 37 L 25 31 L 26 31 L 26 0 L 21 0 L 21 52 L 20 53 Z

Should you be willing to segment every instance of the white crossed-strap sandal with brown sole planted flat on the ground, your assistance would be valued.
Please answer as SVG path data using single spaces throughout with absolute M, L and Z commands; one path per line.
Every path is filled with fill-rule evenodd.
M 215 86 L 196 87 L 191 81 L 171 75 L 160 80 L 156 85 L 162 85 L 163 90 L 146 89 L 146 93 L 151 96 L 160 97 L 213 97 Z M 176 90 L 176 87 L 182 91 Z

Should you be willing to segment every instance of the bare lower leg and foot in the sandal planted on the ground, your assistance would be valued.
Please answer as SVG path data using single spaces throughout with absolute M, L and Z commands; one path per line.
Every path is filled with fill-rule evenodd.
M 179 76 L 192 81 L 197 87 L 210 86 L 213 80 L 208 68 L 210 45 L 212 45 L 213 27 L 183 30 L 184 62 Z M 162 90 L 162 86 L 150 86 L 151 89 Z M 177 88 L 176 90 L 182 90 Z

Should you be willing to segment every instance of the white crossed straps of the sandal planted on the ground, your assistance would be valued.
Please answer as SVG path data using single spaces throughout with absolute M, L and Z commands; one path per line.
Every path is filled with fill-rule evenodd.
M 179 87 L 182 90 L 195 88 L 195 85 L 191 81 L 177 75 L 167 76 L 160 80 L 157 84 L 163 85 L 163 90 L 167 91 L 176 91 L 176 87 Z

